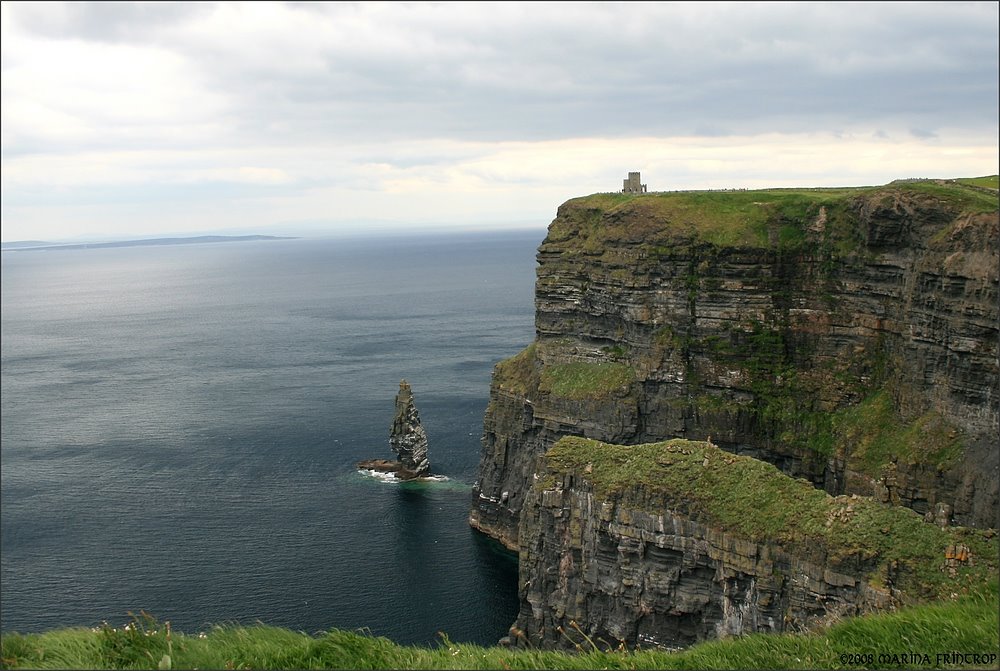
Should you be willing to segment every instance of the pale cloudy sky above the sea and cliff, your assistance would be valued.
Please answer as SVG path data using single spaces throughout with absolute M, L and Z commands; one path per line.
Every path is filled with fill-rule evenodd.
M 998 3 L 2 4 L 2 239 L 997 172 Z

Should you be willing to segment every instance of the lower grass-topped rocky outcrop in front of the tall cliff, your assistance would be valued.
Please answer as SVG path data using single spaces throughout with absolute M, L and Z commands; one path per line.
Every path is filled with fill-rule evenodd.
M 991 531 L 831 497 L 706 443 L 564 438 L 539 468 L 520 518 L 515 645 L 674 648 L 799 631 L 997 570 Z

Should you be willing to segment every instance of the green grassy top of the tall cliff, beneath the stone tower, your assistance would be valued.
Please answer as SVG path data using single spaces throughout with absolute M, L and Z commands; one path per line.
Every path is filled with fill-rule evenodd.
M 694 240 L 728 247 L 794 247 L 817 224 L 842 249 L 856 245 L 867 202 L 906 203 L 951 218 L 995 212 L 996 176 L 897 181 L 878 187 L 598 193 L 560 206 L 546 244 L 596 252 L 609 243 L 657 247 Z M 544 245 L 543 245 L 544 249 Z

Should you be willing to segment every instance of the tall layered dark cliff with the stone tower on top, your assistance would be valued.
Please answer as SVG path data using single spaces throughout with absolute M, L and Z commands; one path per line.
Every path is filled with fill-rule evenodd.
M 996 527 L 998 254 L 996 192 L 954 183 L 568 201 L 536 340 L 494 372 L 471 524 L 517 549 L 537 460 L 575 435 L 710 437 Z

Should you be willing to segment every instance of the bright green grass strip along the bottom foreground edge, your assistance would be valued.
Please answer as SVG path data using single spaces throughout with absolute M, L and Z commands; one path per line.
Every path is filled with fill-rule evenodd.
M 1000 599 L 993 581 L 954 600 L 895 613 L 851 618 L 803 634 L 754 634 L 713 641 L 679 652 L 594 649 L 576 654 L 511 650 L 448 641 L 402 646 L 363 632 L 315 635 L 263 624 L 217 626 L 203 634 L 167 634 L 152 618 L 149 636 L 121 627 L 4 634 L 3 668 L 9 669 L 858 669 L 995 668 L 996 663 L 946 665 L 947 652 L 998 653 Z M 136 620 L 133 620 L 133 623 Z M 926 654 L 919 663 L 892 655 Z M 849 654 L 871 654 L 858 664 Z M 169 657 L 164 660 L 164 655 Z M 881 658 L 881 661 L 880 661 Z M 989 659 L 989 658 L 987 658 Z M 993 657 L 996 660 L 996 657 Z

